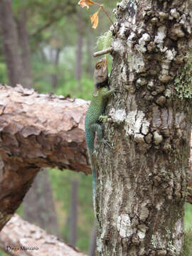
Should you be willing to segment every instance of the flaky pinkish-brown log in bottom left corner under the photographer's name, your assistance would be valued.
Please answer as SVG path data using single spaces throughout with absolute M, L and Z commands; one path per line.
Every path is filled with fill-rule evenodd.
M 49 235 L 46 231 L 28 223 L 16 214 L 1 230 L 0 247 L 9 255 L 85 256 L 76 248 L 60 242 L 54 235 Z M 24 250 L 26 247 L 34 249 Z M 16 251 L 13 250 L 14 248 Z

